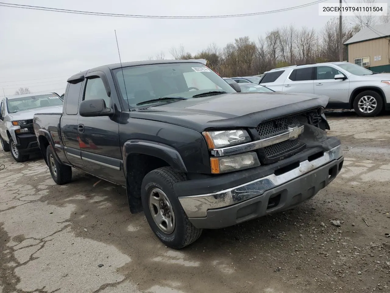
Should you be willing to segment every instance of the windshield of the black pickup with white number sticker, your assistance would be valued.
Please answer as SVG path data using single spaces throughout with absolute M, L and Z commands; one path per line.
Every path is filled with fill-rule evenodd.
M 200 63 L 165 63 L 114 70 L 122 97 L 131 107 L 163 97 L 193 98 L 213 91 L 236 91 L 213 70 Z M 126 85 L 126 89 L 125 89 Z M 172 102 L 159 100 L 151 103 Z

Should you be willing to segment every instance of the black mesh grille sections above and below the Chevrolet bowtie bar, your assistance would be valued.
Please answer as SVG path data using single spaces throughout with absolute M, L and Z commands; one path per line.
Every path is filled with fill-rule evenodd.
M 257 125 L 256 131 L 259 134 L 260 139 L 264 139 L 287 130 L 289 126 L 296 126 L 299 124 L 298 115 L 295 115 L 262 122 Z M 276 143 L 275 145 L 260 149 L 260 161 L 263 164 L 270 164 L 299 152 L 302 147 L 304 147 L 304 145 L 300 142 L 299 138 L 287 139 L 280 143 Z

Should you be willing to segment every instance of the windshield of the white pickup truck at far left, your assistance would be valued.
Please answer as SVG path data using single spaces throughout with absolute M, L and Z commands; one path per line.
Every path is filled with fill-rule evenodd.
M 55 94 L 23 96 L 20 98 L 9 98 L 7 100 L 8 113 L 50 106 L 60 106 L 62 104 L 63 101 Z

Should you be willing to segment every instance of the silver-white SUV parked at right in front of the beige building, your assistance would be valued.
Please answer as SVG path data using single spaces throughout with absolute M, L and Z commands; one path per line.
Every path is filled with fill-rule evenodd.
M 390 110 L 390 73 L 375 73 L 348 62 L 276 68 L 259 82 L 274 91 L 329 96 L 329 109 L 355 109 L 372 117 Z

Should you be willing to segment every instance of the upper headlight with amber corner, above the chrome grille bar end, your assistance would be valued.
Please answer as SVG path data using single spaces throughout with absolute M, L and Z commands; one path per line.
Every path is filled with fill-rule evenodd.
M 204 131 L 203 136 L 206 139 L 207 147 L 213 148 L 230 147 L 251 141 L 246 130 L 223 130 L 223 131 Z

